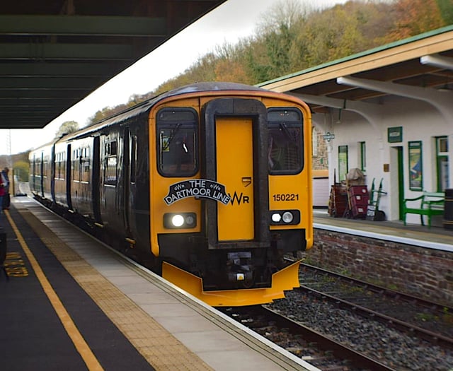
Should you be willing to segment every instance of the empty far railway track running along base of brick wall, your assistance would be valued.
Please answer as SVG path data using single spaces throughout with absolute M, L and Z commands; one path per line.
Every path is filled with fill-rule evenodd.
M 453 308 L 302 264 L 298 291 L 335 302 L 430 343 L 453 348 Z

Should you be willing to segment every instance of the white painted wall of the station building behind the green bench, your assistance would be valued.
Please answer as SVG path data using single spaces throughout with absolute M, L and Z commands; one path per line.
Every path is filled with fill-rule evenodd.
M 453 93 L 452 93 L 453 103 Z M 377 109 L 377 110 L 376 110 Z M 337 169 L 338 182 L 338 146 L 348 146 L 348 167 L 360 167 L 360 148 L 358 143 L 365 141 L 367 153 L 366 181 L 370 189 L 372 180 L 378 186 L 381 178 L 383 189 L 379 208 L 386 213 L 387 220 L 398 220 L 398 177 L 396 147 L 403 148 L 404 197 L 420 196 L 420 192 L 409 189 L 408 142 L 422 141 L 423 155 L 423 189 L 437 191 L 436 136 L 449 136 L 449 188 L 453 188 L 453 122 L 448 122 L 448 115 L 441 114 L 433 105 L 423 100 L 401 98 L 388 95 L 384 100 L 374 104 L 374 112 L 379 114 L 360 114 L 346 109 L 341 112 L 338 123 L 338 110 L 325 114 L 328 121 L 326 129 L 335 134 L 329 144 L 329 183 L 333 184 L 333 169 Z M 365 118 L 366 117 L 366 118 Z M 371 117 L 371 120 L 370 120 Z M 452 114 L 453 117 L 453 104 Z M 387 129 L 393 126 L 403 127 L 403 141 L 388 143 Z M 389 164 L 389 172 L 384 171 L 384 164 Z M 408 223 L 420 223 L 420 216 L 409 215 Z

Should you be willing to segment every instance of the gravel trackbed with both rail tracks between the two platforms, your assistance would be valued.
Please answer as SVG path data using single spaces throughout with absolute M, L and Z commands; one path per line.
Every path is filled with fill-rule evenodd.
M 321 370 L 453 370 L 453 310 L 309 265 L 301 290 L 229 314 Z

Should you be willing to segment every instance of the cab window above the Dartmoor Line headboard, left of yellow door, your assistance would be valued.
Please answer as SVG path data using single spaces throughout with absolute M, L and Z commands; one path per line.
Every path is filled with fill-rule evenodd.
M 157 159 L 165 177 L 197 173 L 197 113 L 190 108 L 164 108 L 157 113 Z

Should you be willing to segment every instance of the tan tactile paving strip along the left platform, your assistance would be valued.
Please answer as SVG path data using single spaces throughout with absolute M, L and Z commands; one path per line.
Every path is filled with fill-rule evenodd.
M 212 370 L 195 353 L 81 259 L 30 211 L 21 215 L 64 268 L 156 370 Z

